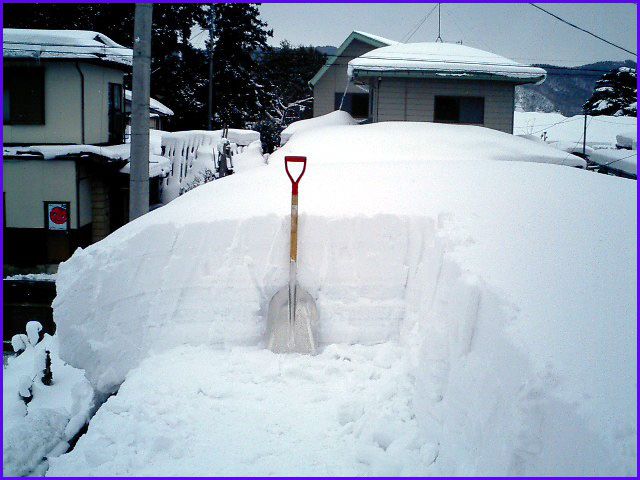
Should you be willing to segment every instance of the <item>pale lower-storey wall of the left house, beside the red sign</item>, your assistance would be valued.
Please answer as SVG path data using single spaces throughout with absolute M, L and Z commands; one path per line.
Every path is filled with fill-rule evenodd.
M 70 202 L 71 228 L 78 228 L 74 161 L 4 160 L 3 163 L 8 228 L 44 228 L 45 201 Z

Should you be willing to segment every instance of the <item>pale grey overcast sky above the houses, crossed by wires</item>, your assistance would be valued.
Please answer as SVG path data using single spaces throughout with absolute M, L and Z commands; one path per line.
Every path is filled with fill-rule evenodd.
M 352 30 L 401 40 L 433 8 L 413 4 L 263 3 L 261 17 L 273 28 L 272 44 L 339 46 Z M 635 4 L 541 4 L 566 20 L 636 52 Z M 528 63 L 582 65 L 598 60 L 636 60 L 529 4 L 442 4 L 442 37 Z M 411 38 L 434 41 L 437 9 Z

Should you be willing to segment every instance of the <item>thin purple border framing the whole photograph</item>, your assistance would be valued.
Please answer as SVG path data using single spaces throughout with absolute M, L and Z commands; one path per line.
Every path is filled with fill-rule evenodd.
M 3 20 L 4 18 L 4 5 L 5 4 L 30 4 L 30 3 L 36 3 L 33 1 L 29 1 L 29 0 L 13 0 L 13 1 L 8 1 L 5 2 L 4 0 L 0 0 L 0 21 Z M 102 4 L 109 4 L 109 3 L 121 3 L 121 4 L 125 4 L 125 3 L 136 3 L 133 1 L 129 1 L 129 0 L 106 0 L 106 1 L 100 1 L 100 2 L 87 2 L 87 1 L 78 1 L 78 0 L 40 0 L 37 3 L 54 3 L 54 4 L 60 4 L 60 3 L 102 3 Z M 154 3 L 154 4 L 158 4 L 158 3 L 202 3 L 202 4 L 208 4 L 210 2 L 202 2 L 202 1 L 193 1 L 193 0 L 187 0 L 187 1 L 170 1 L 170 0 L 159 0 L 159 1 L 154 1 L 154 2 L 139 2 L 139 3 Z M 231 0 L 229 2 L 226 3 L 251 3 L 251 2 L 244 2 L 244 1 L 237 1 L 237 0 Z M 353 1 L 348 1 L 348 2 L 340 2 L 340 1 L 325 1 L 325 0 L 308 0 L 308 1 L 289 1 L 289 0 L 285 0 L 285 1 L 271 1 L 271 0 L 263 0 L 260 3 L 273 3 L 273 4 L 287 4 L 287 3 L 312 3 L 312 4 L 322 4 L 322 3 L 345 3 L 345 4 L 349 4 L 349 3 L 373 3 L 373 4 L 384 4 L 384 3 L 396 3 L 396 4 L 419 4 L 419 3 L 434 3 L 434 2 L 419 2 L 419 1 L 389 1 L 389 0 L 353 0 Z M 484 4 L 524 4 L 524 3 L 529 3 L 529 2 L 518 2 L 518 1 L 509 1 L 509 0 L 492 0 L 492 1 L 478 1 L 478 0 L 453 0 L 453 1 L 447 1 L 447 2 L 441 2 L 441 3 L 484 3 Z M 563 1 L 563 0 L 544 0 L 544 1 L 539 1 L 539 2 L 535 2 L 538 4 L 591 4 L 591 3 L 597 3 L 597 4 L 605 4 L 605 3 L 612 3 L 612 4 L 635 4 L 638 5 L 638 1 L 631 1 L 631 0 L 623 0 L 623 1 L 598 1 L 598 0 L 582 0 L 582 1 Z M 638 24 L 638 12 L 636 11 L 636 26 Z M 2 22 L 3 26 L 4 26 L 4 22 Z M 639 37 L 638 37 L 638 31 L 636 28 L 636 52 L 638 52 L 639 47 L 640 46 L 640 42 L 639 42 Z M 3 71 L 0 71 L 0 84 L 4 85 L 4 78 L 3 78 L 3 73 L 4 73 L 4 69 L 2 69 Z M 2 100 L 0 100 L 0 103 L 2 102 Z M 636 126 L 637 128 L 637 126 Z M 0 135 L 3 135 L 4 132 Z M 0 137 L 3 140 L 3 145 L 4 145 L 4 138 Z M 3 162 L 4 162 L 4 158 L 3 158 Z M 3 191 L 4 191 L 4 166 L 2 171 L 0 171 L 0 181 L 2 182 L 3 185 Z M 637 206 L 638 206 L 638 198 L 636 195 L 636 211 L 637 211 Z M 2 195 L 2 197 L 0 198 L 0 207 L 2 208 L 2 216 L 3 216 L 3 222 L 4 222 L 4 195 Z M 4 225 L 4 224 L 3 224 Z M 637 226 L 637 216 L 636 216 L 636 226 Z M 638 260 L 638 246 L 636 245 L 636 275 L 637 275 L 637 271 L 638 271 L 638 265 L 640 265 L 640 260 Z M 2 258 L 2 265 L 3 265 L 3 278 L 4 278 L 4 228 L 3 228 L 3 233 L 0 234 L 0 257 Z M 636 282 L 636 288 L 637 288 L 637 282 Z M 636 299 L 637 299 L 637 295 L 636 295 Z M 2 303 L 3 306 L 3 311 L 2 313 L 0 313 L 0 323 L 2 323 L 3 326 L 3 332 L 4 332 L 4 288 L 2 289 L 2 292 L 0 292 L 0 302 Z M 637 318 L 638 318 L 638 305 L 636 303 L 636 322 L 637 322 Z M 3 338 L 4 340 L 4 338 Z M 636 328 L 636 356 L 637 356 L 637 347 L 638 345 L 640 345 L 640 343 L 638 342 L 638 334 L 637 334 L 637 328 Z M 636 358 L 637 360 L 637 358 Z M 636 362 L 637 365 L 637 362 Z M 2 380 L 4 382 L 4 368 L 2 371 Z M 637 370 L 636 370 L 636 383 L 637 383 Z M 0 399 L 0 405 L 2 405 L 2 407 L 4 408 L 3 405 L 4 399 Z M 637 409 L 637 413 L 640 412 L 640 409 L 638 409 L 637 406 L 637 401 L 636 401 L 636 409 Z M 637 418 L 637 414 L 636 414 L 636 418 Z M 0 420 L 0 425 L 2 425 L 2 420 Z M 637 425 L 636 425 L 636 430 L 637 430 Z M 4 447 L 4 435 L 3 435 L 3 447 Z M 3 448 L 4 451 L 4 448 Z M 636 472 L 639 470 L 638 466 L 640 464 L 638 463 L 637 460 L 637 455 L 636 455 Z M 4 472 L 4 469 L 3 469 Z M 5 477 L 4 473 L 2 475 L 2 478 L 15 478 L 15 477 Z M 50 477 L 50 478 L 62 478 L 62 477 Z M 78 477 L 81 478 L 81 477 Z M 91 477 L 91 478 L 122 478 L 122 477 Z M 158 478 L 158 477 L 140 477 L 140 478 Z M 166 478 L 166 477 L 164 477 Z M 172 478 L 194 478 L 194 477 L 172 477 Z M 200 478 L 246 478 L 246 477 L 200 477 Z M 317 478 L 317 477 L 252 477 L 252 478 Z M 341 477 L 341 478 L 360 478 L 360 477 Z M 395 477 L 370 477 L 370 478 L 395 478 Z M 411 478 L 411 477 L 407 477 L 407 478 Z M 435 478 L 439 478 L 439 477 L 435 477 Z M 503 477 L 469 477 L 469 478 L 503 478 Z M 538 477 L 519 477 L 519 478 L 538 478 Z M 625 477 L 601 477 L 601 478 L 625 478 Z

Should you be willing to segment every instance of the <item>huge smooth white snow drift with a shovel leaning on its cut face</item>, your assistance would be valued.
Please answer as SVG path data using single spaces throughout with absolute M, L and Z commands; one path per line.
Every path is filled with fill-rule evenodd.
M 269 166 L 198 187 L 78 250 L 57 278 L 62 358 L 102 392 L 128 378 L 114 402 L 130 411 L 126 386 L 156 375 L 153 355 L 263 346 L 267 303 L 287 279 L 285 154 L 309 158 L 299 281 L 316 298 L 321 344 L 402 352 L 396 375 L 420 442 L 401 422 L 375 448 L 404 438 L 424 474 L 635 474 L 635 183 L 531 163 L 572 156 L 478 127 L 309 131 Z M 112 408 L 122 407 L 96 421 L 113 426 Z M 136 435 L 125 423 L 116 445 Z M 178 441 L 175 431 L 158 441 Z M 87 468 L 103 432 L 90 428 L 54 472 L 65 461 Z M 376 452 L 367 461 L 388 466 Z M 178 467 L 191 454 L 178 452 L 171 471 L 190 471 Z M 150 473 L 132 461 L 127 474 Z M 122 471 L 104 462 L 101 472 Z

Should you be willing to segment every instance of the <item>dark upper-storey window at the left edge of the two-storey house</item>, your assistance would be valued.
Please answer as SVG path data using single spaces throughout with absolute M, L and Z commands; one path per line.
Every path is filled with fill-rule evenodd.
M 5 67 L 4 123 L 44 125 L 44 68 Z

